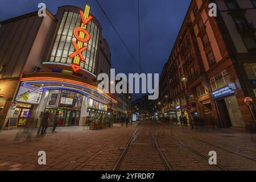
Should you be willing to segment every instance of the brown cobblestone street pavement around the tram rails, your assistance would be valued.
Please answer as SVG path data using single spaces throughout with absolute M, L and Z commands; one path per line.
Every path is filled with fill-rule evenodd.
M 151 135 L 156 135 L 160 150 L 174 170 L 223 170 L 209 165 L 209 151 L 217 152 L 217 163 L 222 167 L 256 170 L 255 135 L 234 129 L 192 130 L 150 121 L 100 130 L 57 127 L 57 133 L 49 128 L 40 137 L 36 137 L 35 129 L 32 140 L 27 140 L 22 130 L 1 131 L 0 170 L 112 170 L 137 128 L 137 138 L 120 170 L 165 170 Z M 38 151 L 46 151 L 46 165 L 38 164 Z

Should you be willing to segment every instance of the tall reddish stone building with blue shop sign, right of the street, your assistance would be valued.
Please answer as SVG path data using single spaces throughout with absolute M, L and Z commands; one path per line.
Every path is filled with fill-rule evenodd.
M 209 3 L 217 16 L 209 16 Z M 171 117 L 245 127 L 255 117 L 255 1 L 191 2 L 165 69 Z M 163 84 L 163 81 L 160 84 Z M 250 108 L 243 102 L 253 98 Z

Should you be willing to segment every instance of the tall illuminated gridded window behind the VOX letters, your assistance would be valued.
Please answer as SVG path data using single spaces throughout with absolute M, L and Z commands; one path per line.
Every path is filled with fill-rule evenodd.
M 73 30 L 76 27 L 80 27 L 80 24 L 81 16 L 79 13 L 74 11 L 64 12 L 49 61 L 64 64 L 72 63 L 72 59 L 68 57 L 75 50 L 71 41 L 77 41 L 73 36 Z M 100 29 L 91 20 L 87 24 L 86 30 L 90 33 L 90 40 L 84 46 L 89 48 L 82 52 L 82 55 L 85 57 L 85 63 L 80 62 L 80 65 L 83 69 L 94 73 Z

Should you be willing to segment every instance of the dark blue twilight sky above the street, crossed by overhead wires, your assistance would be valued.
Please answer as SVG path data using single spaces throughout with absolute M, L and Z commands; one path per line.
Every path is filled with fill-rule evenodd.
M 117 73 L 138 73 L 138 65 L 115 34 L 95 0 L 0 0 L 0 20 L 38 10 L 46 3 L 55 14 L 57 7 L 73 5 L 84 8 L 86 2 L 103 27 L 103 36 L 112 52 L 112 68 Z M 137 0 L 98 0 L 122 36 L 133 56 L 139 61 Z M 141 22 L 141 67 L 146 73 L 161 73 L 180 30 L 191 0 L 139 0 Z M 134 96 L 139 97 L 139 96 Z M 133 97 L 133 98 L 134 98 Z

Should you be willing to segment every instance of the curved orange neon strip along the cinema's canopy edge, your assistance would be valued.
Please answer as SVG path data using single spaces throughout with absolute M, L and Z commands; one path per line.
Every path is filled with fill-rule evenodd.
M 20 78 L 20 81 L 35 81 L 35 80 L 46 80 L 46 81 L 60 81 L 60 82 L 67 82 L 69 84 L 77 84 L 81 86 L 86 86 L 88 88 L 91 88 L 93 90 L 96 90 L 97 92 L 100 92 L 101 94 L 104 94 L 104 96 L 108 97 L 113 102 L 117 103 L 117 100 L 115 100 L 113 97 L 110 97 L 108 94 L 102 92 L 101 90 L 98 90 L 96 86 L 86 84 L 84 82 L 75 81 L 75 80 L 68 80 L 65 78 L 55 78 L 55 77 L 30 77 L 30 78 Z

